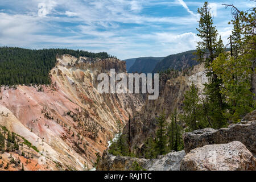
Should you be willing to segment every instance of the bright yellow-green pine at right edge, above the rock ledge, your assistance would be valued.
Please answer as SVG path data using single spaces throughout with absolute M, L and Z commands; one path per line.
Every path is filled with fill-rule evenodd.
M 243 14 L 237 10 L 233 14 L 234 20 L 232 20 L 233 30 L 231 36 L 233 55 L 221 53 L 213 61 L 213 71 L 217 73 L 223 82 L 221 94 L 225 96 L 226 103 L 228 104 L 228 111 L 225 114 L 233 122 L 240 121 L 246 113 L 255 109 L 252 81 L 254 66 L 252 64 L 253 61 L 251 61 L 255 60 L 255 47 L 251 46 L 251 40 L 253 37 L 255 38 L 255 35 L 247 34 L 246 27 L 252 27 L 252 25 L 248 22 L 249 19 L 246 16 L 253 20 L 252 16 L 250 17 L 246 13 Z M 250 32 L 251 29 L 249 28 L 248 31 Z

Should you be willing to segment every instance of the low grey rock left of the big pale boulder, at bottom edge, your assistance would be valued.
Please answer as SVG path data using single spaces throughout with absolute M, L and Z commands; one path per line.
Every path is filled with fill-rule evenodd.
M 134 162 L 143 169 L 150 171 L 179 171 L 180 162 L 185 156 L 185 151 L 170 152 L 159 156 L 158 159 L 139 159 L 127 156 L 114 156 L 104 151 L 102 159 L 97 166 L 99 171 L 129 171 L 133 170 Z

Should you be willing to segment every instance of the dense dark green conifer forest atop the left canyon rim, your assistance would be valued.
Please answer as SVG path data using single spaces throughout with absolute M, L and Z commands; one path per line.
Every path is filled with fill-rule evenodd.
M 50 84 L 49 71 L 55 66 L 56 55 L 75 57 L 112 57 L 106 52 L 92 53 L 72 49 L 24 49 L 0 47 L 0 85 Z

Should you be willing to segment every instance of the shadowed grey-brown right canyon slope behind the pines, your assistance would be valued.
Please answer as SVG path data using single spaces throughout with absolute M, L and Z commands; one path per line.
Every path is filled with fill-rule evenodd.
M 207 82 L 205 68 L 202 64 L 193 67 L 186 75 L 179 73 L 179 76 L 174 76 L 174 73 L 169 73 L 163 74 L 159 79 L 158 100 L 146 100 L 141 112 L 137 113 L 130 122 L 131 148 L 137 148 L 134 152 L 138 155 L 143 150 L 145 140 L 150 136 L 154 137 L 156 116 L 161 113 L 169 116 L 175 109 L 179 112 L 184 93 L 192 82 L 199 88 L 199 93 L 203 92 L 203 84 Z M 125 126 L 123 133 L 127 135 L 127 131 L 128 125 Z

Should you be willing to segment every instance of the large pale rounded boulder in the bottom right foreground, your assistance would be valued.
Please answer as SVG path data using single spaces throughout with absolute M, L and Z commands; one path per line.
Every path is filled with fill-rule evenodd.
M 210 144 L 191 150 L 181 160 L 182 171 L 256 170 L 256 160 L 241 142 Z

